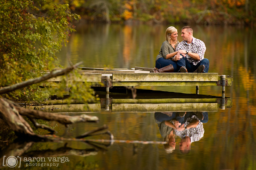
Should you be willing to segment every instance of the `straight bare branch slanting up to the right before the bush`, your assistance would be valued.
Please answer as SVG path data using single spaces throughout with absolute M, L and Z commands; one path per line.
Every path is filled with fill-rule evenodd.
M 67 68 L 64 68 L 64 69 L 61 69 L 61 70 L 51 71 L 50 73 L 45 74 L 41 77 L 37 77 L 37 78 L 34 78 L 34 79 L 29 79 L 29 80 L 23 81 L 21 83 L 17 83 L 17 84 L 8 86 L 8 87 L 0 88 L 0 94 L 8 93 L 8 92 L 11 92 L 11 91 L 20 89 L 22 87 L 26 87 L 26 86 L 35 84 L 35 83 L 40 83 L 41 81 L 45 81 L 45 80 L 50 79 L 52 77 L 57 77 L 57 76 L 60 76 L 60 75 L 67 74 L 70 71 L 74 70 L 80 64 L 82 64 L 82 62 L 79 62 L 79 63 L 77 63 L 73 66 L 70 66 L 70 67 L 67 67 Z

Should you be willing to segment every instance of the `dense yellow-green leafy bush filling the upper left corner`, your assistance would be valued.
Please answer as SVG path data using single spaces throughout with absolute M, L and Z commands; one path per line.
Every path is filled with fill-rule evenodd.
M 43 10 L 36 6 L 31 0 L 0 2 L 0 87 L 39 77 L 41 70 L 57 67 L 55 53 L 75 31 L 72 20 L 80 19 L 69 12 L 68 4 L 47 4 Z M 25 102 L 48 96 L 38 85 L 2 95 Z

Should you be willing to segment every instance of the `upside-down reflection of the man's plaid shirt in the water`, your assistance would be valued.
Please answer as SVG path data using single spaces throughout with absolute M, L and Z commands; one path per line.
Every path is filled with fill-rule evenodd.
M 193 115 L 191 118 L 188 118 L 186 120 L 186 122 L 184 123 L 184 127 L 186 127 L 190 122 L 192 122 L 193 120 L 198 120 L 198 118 Z M 183 131 L 178 131 L 176 129 L 174 129 L 175 134 L 178 135 L 180 138 L 184 138 L 185 136 L 189 136 L 191 143 L 195 142 L 195 141 L 199 141 L 203 136 L 204 136 L 204 127 L 203 127 L 203 123 L 200 122 L 197 125 L 197 127 L 195 128 L 189 128 Z

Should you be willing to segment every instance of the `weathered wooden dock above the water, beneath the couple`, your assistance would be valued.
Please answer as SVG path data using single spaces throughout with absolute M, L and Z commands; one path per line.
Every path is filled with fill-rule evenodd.
M 196 86 L 196 94 L 199 86 L 222 86 L 222 95 L 225 94 L 225 86 L 231 86 L 233 77 L 218 75 L 218 73 L 150 73 L 153 68 L 135 67 L 128 69 L 105 69 L 79 67 L 82 79 L 76 81 L 92 82 L 92 87 L 128 86 Z M 48 81 L 59 83 L 59 77 Z M 45 83 L 47 85 L 47 83 Z

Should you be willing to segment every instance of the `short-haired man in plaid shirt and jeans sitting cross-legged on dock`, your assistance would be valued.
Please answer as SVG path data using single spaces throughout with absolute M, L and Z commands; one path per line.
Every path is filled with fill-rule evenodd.
M 193 37 L 193 29 L 190 26 L 181 29 L 181 41 L 176 47 L 178 51 L 174 56 L 181 73 L 207 73 L 209 60 L 204 58 L 206 47 L 203 41 Z

